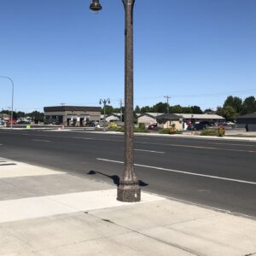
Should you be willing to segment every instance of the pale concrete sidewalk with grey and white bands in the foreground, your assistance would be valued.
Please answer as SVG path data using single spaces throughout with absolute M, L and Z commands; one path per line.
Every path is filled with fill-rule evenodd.
M 0 158 L 0 255 L 256 255 L 256 222 Z

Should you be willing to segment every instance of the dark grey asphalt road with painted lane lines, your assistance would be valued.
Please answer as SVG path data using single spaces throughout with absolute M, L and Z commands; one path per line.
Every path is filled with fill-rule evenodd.
M 118 183 L 124 137 L 90 131 L 0 130 L 0 156 Z M 135 137 L 143 190 L 256 217 L 256 143 Z M 1 189 L 0 189 L 1 190 Z

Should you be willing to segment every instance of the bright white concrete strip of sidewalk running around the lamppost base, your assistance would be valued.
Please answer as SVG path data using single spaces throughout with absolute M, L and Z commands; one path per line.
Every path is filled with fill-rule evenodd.
M 0 201 L 0 223 L 135 204 L 117 201 L 116 193 L 116 189 L 108 189 Z M 137 204 L 160 200 L 165 198 L 142 193 Z

